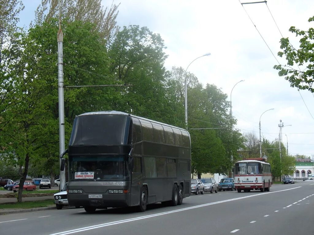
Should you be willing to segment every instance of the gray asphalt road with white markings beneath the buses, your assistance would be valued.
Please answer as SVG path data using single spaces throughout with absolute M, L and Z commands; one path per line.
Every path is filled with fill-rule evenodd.
M 64 208 L 0 215 L 1 234 L 185 235 L 313 234 L 314 182 L 273 185 L 270 192 L 191 195 L 181 206 L 97 210 Z

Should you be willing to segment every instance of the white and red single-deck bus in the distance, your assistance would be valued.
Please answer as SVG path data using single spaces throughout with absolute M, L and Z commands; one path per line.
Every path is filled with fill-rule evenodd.
M 236 162 L 234 168 L 235 189 L 240 193 L 253 189 L 269 191 L 273 181 L 270 164 L 263 158 L 246 159 Z

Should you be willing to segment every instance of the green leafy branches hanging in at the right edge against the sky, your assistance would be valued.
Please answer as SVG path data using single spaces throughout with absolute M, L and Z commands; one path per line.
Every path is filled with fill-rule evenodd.
M 309 18 L 309 22 L 314 21 L 314 17 Z M 297 87 L 302 90 L 309 90 L 314 92 L 314 29 L 309 28 L 307 31 L 296 29 L 294 26 L 290 27 L 290 32 L 294 33 L 296 37 L 300 38 L 300 48 L 296 49 L 289 41 L 289 38 L 280 39 L 280 49 L 278 55 L 287 60 L 287 65 L 275 65 L 274 69 L 279 70 L 279 76 L 284 76 L 290 82 L 290 86 Z M 306 69 L 295 69 L 293 65 L 306 66 Z

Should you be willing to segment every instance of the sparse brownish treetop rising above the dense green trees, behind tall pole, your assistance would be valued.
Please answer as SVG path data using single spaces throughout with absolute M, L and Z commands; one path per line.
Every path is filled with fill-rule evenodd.
M 106 39 L 109 43 L 119 29 L 116 25 L 119 5 L 120 3 L 116 5 L 112 2 L 110 8 L 104 9 L 101 0 L 61 0 L 62 18 L 66 18 L 69 22 L 81 21 L 94 24 L 92 30 L 99 32 L 100 38 Z M 48 13 L 45 15 L 46 12 Z M 58 18 L 58 0 L 42 0 L 35 15 L 35 24 L 38 25 L 48 22 L 50 18 Z

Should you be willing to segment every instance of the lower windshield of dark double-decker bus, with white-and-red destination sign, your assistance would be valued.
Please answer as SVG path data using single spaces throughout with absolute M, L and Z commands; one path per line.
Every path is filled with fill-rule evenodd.
M 70 159 L 72 181 L 124 181 L 126 161 L 123 156 L 73 156 Z

